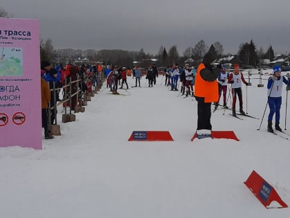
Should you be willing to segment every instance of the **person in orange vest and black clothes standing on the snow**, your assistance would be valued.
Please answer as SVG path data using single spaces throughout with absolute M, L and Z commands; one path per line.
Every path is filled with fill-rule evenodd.
M 216 57 L 206 53 L 197 67 L 195 76 L 195 100 L 197 100 L 197 138 L 211 137 L 211 103 L 218 101 L 218 75 L 221 66 L 213 69 Z

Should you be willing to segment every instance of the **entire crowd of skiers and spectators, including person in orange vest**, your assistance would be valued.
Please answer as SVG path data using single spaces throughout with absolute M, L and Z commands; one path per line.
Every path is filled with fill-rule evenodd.
M 236 114 L 236 101 L 239 100 L 239 110 L 240 115 L 245 115 L 243 110 L 243 97 L 242 97 L 242 83 L 246 86 L 249 83 L 244 79 L 243 73 L 240 71 L 239 64 L 233 65 L 233 72 L 226 72 L 226 66 L 218 64 L 218 66 L 213 66 L 216 62 L 216 57 L 212 53 L 206 53 L 202 60 L 202 63 L 195 69 L 189 64 L 185 66 L 179 66 L 179 64 L 174 64 L 173 66 L 168 66 L 164 68 L 162 72 L 163 77 L 165 77 L 164 85 L 166 87 L 171 87 L 171 91 L 178 91 L 180 88 L 181 95 L 194 96 L 197 100 L 197 137 L 205 138 L 211 136 L 211 104 L 215 105 L 215 109 L 222 106 L 228 109 L 227 106 L 227 91 L 230 87 L 232 95 L 232 115 Z M 118 93 L 119 89 L 129 89 L 127 82 L 127 75 L 133 73 L 133 78 L 135 78 L 135 86 L 141 87 L 140 78 L 142 77 L 142 72 L 138 66 L 134 69 L 128 69 L 126 67 L 120 66 L 106 66 L 104 69 L 100 64 L 97 66 L 72 66 L 68 64 L 66 67 L 59 64 L 56 68 L 53 68 L 49 62 L 41 62 L 41 79 L 48 84 L 48 90 L 55 88 L 61 88 L 68 80 L 75 81 L 79 76 L 81 78 L 80 87 L 72 87 L 72 91 L 76 91 L 78 88 L 87 91 L 88 88 L 84 83 L 84 75 L 91 73 L 90 75 L 96 75 L 97 73 L 104 72 L 106 76 L 106 87 L 112 91 L 113 94 Z M 144 73 L 144 72 L 143 72 Z M 148 87 L 153 87 L 156 84 L 156 79 L 158 78 L 158 70 L 155 64 L 148 66 L 146 70 L 146 80 L 148 80 Z M 273 76 L 269 77 L 267 90 L 268 90 L 268 102 L 269 105 L 269 116 L 268 116 L 268 131 L 273 132 L 272 120 L 274 113 L 275 118 L 275 129 L 282 131 L 279 126 L 280 123 L 280 107 L 282 104 L 282 84 L 287 84 L 287 91 L 290 90 L 290 75 L 289 73 L 284 77 L 281 76 L 281 69 L 279 66 L 273 67 Z M 43 117 L 43 127 L 45 129 L 45 138 L 53 138 L 50 131 L 48 130 L 48 112 L 50 112 L 50 124 L 55 122 L 56 111 L 51 109 L 48 111 L 48 102 L 50 102 L 50 107 L 55 105 L 57 99 L 50 94 L 47 97 L 47 91 L 43 91 L 44 83 L 41 80 L 41 100 L 44 103 L 42 105 L 42 117 Z M 163 78 L 162 78 L 163 81 Z M 97 80 L 93 81 L 94 84 Z M 195 89 L 193 89 L 195 87 Z M 220 98 L 222 97 L 222 104 L 220 105 Z M 72 110 L 76 104 L 76 100 L 72 99 Z

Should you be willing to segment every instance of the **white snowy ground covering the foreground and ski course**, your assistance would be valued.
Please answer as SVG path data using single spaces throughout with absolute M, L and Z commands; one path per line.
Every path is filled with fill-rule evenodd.
M 191 141 L 197 104 L 169 91 L 162 76 L 153 88 L 142 78 L 141 89 L 119 90 L 128 96 L 105 89 L 75 122 L 59 122 L 61 136 L 43 140 L 43 150 L 0 148 L 0 217 L 290 217 L 289 208 L 264 208 L 244 185 L 255 170 L 290 205 L 290 143 L 267 133 L 268 108 L 257 130 L 267 80 L 258 88 L 256 78 L 243 86 L 244 111 L 260 120 L 238 120 L 224 109 L 212 116 L 213 130 L 233 130 L 240 142 Z M 285 102 L 284 90 L 282 129 Z M 137 130 L 170 131 L 174 141 L 128 141 Z

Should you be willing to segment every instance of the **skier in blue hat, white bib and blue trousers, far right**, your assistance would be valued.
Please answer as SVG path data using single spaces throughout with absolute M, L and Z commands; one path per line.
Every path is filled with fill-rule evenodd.
M 275 118 L 275 129 L 278 131 L 282 131 L 281 127 L 279 126 L 280 124 L 280 108 L 282 104 L 282 86 L 283 82 L 284 84 L 287 85 L 286 90 L 290 90 L 290 74 L 287 73 L 287 78 L 284 78 L 284 76 L 281 77 L 281 68 L 280 66 L 274 66 L 273 67 L 273 76 L 271 76 L 268 79 L 268 84 L 267 84 L 267 95 L 268 95 L 268 104 L 269 104 L 269 109 L 270 113 L 268 116 L 268 128 L 267 130 L 269 132 L 274 132 L 272 128 L 272 119 L 274 113 L 276 114 Z

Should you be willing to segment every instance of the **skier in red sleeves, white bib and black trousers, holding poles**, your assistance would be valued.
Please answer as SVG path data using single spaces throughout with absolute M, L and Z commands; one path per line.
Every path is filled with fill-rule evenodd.
M 229 75 L 228 83 L 231 84 L 231 93 L 233 96 L 233 116 L 237 116 L 235 113 L 235 102 L 237 101 L 237 96 L 240 102 L 240 114 L 245 115 L 242 109 L 242 82 L 249 86 L 249 83 L 244 80 L 244 75 L 240 72 L 240 65 L 234 64 L 233 65 L 233 73 Z

